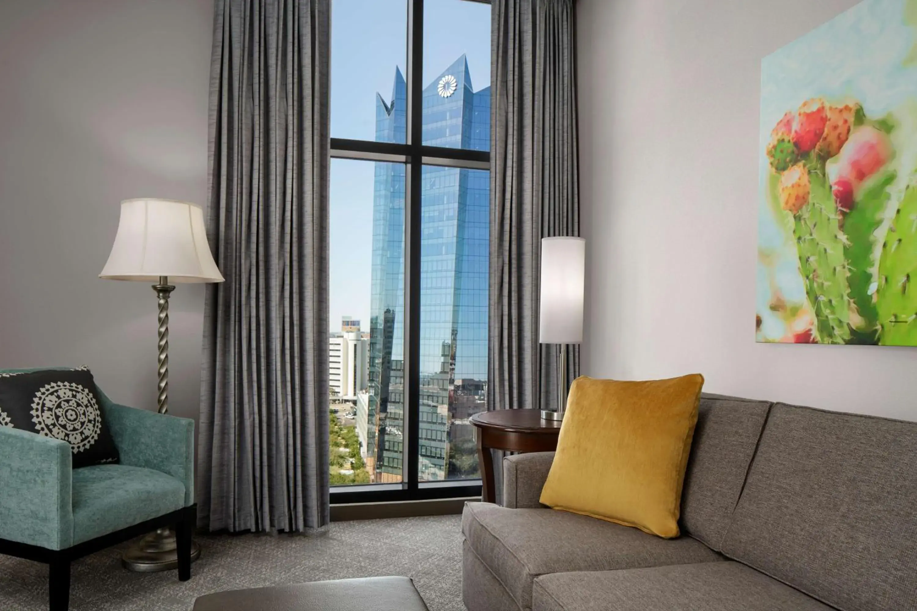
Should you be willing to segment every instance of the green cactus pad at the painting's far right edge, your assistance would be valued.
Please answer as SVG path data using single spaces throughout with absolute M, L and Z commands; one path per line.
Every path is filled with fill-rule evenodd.
M 877 296 L 880 343 L 917 345 L 917 186 L 905 192 L 882 245 Z

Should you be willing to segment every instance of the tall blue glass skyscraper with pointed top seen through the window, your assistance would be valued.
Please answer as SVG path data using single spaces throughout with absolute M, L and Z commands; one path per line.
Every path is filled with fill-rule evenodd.
M 403 142 L 407 87 L 376 98 L 376 140 Z M 424 144 L 488 150 L 490 87 L 475 92 L 461 56 L 424 90 Z M 403 469 L 404 165 L 377 163 L 372 220 L 367 467 L 376 482 Z M 487 387 L 490 175 L 425 166 L 421 198 L 419 475 L 477 475 L 468 418 Z

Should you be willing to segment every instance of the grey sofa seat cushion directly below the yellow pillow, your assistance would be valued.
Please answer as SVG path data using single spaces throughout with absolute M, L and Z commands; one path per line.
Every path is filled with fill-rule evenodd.
M 462 532 L 471 551 L 513 596 L 532 604 L 532 581 L 545 573 L 612 571 L 723 559 L 702 542 L 664 540 L 612 522 L 554 509 L 468 503 Z

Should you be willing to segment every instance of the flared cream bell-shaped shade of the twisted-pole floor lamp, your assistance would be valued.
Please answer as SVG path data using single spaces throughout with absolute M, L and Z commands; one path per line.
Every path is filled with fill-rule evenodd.
M 188 202 L 121 202 L 115 245 L 99 278 L 222 282 L 204 229 L 204 211 Z

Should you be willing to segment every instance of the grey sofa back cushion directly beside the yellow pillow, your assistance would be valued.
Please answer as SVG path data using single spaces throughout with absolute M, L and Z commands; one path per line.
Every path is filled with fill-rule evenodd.
M 681 529 L 719 551 L 770 403 L 704 393 L 681 495 Z

